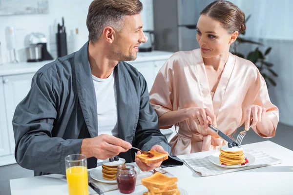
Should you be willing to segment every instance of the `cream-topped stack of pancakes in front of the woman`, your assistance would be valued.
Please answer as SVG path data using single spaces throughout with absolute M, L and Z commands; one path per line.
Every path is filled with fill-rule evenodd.
M 223 163 L 229 166 L 245 163 L 245 156 L 240 146 L 232 146 L 229 148 L 228 145 L 225 145 L 221 147 L 220 153 L 220 164 Z

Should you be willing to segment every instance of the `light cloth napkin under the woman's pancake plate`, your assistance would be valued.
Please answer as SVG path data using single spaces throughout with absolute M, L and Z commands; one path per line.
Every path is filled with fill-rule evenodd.
M 206 157 L 196 157 L 184 159 L 184 164 L 188 166 L 192 171 L 197 173 L 200 176 L 216 176 L 220 174 L 227 174 L 236 171 L 243 171 L 248 169 L 254 169 L 258 167 L 265 167 L 274 164 L 282 163 L 282 160 L 269 156 L 266 153 L 258 150 L 246 150 L 245 153 L 249 153 L 255 157 L 255 162 L 249 166 L 227 169 L 219 167 L 209 161 L 209 156 Z

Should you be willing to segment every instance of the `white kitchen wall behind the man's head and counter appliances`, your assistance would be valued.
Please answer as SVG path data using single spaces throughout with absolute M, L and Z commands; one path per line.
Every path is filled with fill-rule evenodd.
M 141 13 L 144 30 L 153 30 L 152 0 L 141 0 L 144 10 Z M 8 39 L 8 27 L 15 28 L 17 59 L 26 61 L 25 37 L 32 32 L 43 33 L 47 40 L 47 48 L 53 58 L 57 57 L 56 35 L 57 24 L 64 25 L 67 34 L 68 54 L 77 51 L 88 39 L 86 16 L 92 0 L 48 0 L 49 14 L 43 15 L 10 15 L 0 16 L 0 42 L 2 63 L 8 63 L 12 58 L 11 45 Z M 16 5 L 17 6 L 17 5 Z M 76 34 L 76 28 L 79 33 Z

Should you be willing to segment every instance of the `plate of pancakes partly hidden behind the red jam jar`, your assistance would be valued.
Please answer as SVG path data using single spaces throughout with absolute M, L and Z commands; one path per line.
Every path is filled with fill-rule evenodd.
M 103 161 L 102 166 L 91 170 L 90 176 L 91 178 L 103 183 L 115 184 L 117 183 L 116 173 L 118 171 L 118 166 L 123 164 L 125 164 L 124 158 L 120 158 L 118 156 L 108 158 Z M 134 170 L 137 175 L 140 173 L 140 169 L 138 167 L 134 166 Z

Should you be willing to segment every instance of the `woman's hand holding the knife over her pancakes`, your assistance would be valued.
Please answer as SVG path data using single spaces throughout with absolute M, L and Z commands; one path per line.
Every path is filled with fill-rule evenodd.
M 216 116 L 208 108 L 191 107 L 186 109 L 186 116 L 196 124 L 209 127 L 209 123 L 217 127 Z

